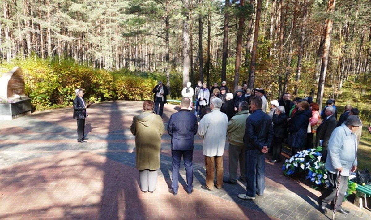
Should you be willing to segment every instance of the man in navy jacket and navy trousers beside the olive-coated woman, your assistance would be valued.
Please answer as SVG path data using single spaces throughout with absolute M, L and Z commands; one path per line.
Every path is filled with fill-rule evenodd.
M 185 176 L 187 177 L 187 193 L 191 194 L 193 192 L 193 136 L 197 133 L 197 118 L 188 110 L 190 102 L 189 98 L 182 98 L 180 111 L 172 114 L 167 124 L 167 132 L 171 136 L 171 157 L 173 163 L 171 172 L 173 183 L 169 192 L 173 195 L 178 194 L 179 167 L 182 155 Z

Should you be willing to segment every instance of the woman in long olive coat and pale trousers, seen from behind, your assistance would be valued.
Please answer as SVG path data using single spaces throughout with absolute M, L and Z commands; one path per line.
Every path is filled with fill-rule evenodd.
M 153 193 L 157 184 L 157 170 L 160 168 L 161 136 L 164 123 L 153 111 L 154 103 L 145 100 L 143 111 L 134 116 L 130 126 L 135 135 L 136 167 L 139 170 L 140 189 L 144 193 Z

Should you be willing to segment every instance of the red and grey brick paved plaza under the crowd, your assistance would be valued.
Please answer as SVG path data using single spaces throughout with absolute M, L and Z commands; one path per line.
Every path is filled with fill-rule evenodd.
M 207 192 L 202 139 L 195 136 L 194 192 L 188 195 L 181 166 L 178 195 L 171 185 L 170 136 L 162 136 L 161 168 L 153 194 L 142 193 L 135 169 L 132 117 L 142 102 L 116 101 L 88 109 L 88 143 L 77 143 L 68 107 L 0 122 L 0 219 L 331 219 L 317 210 L 320 193 L 307 182 L 284 177 L 282 163 L 266 159 L 266 191 L 253 201 L 237 198 L 245 188 L 224 184 Z M 166 104 L 164 123 L 178 109 Z M 165 127 L 166 130 L 166 127 Z M 228 175 L 228 144 L 224 152 Z M 336 219 L 371 219 L 349 202 Z

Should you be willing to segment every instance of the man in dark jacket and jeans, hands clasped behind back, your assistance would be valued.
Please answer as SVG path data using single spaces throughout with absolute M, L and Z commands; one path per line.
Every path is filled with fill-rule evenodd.
M 255 194 L 263 195 L 265 189 L 265 154 L 273 139 L 272 118 L 262 111 L 260 97 L 250 100 L 252 114 L 246 119 L 243 143 L 246 147 L 246 193 L 241 199 L 255 199 Z

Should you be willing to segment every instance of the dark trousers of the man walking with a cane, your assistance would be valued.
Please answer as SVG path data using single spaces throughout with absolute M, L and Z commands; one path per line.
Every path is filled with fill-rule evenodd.
M 335 203 L 336 187 L 338 186 L 338 177 L 339 175 L 332 174 L 330 172 L 328 173 L 328 181 L 330 182 L 330 186 L 319 197 L 319 200 L 322 201 L 323 203 L 330 203 L 330 202 Z M 347 188 L 348 188 L 348 177 L 341 176 L 339 197 L 338 197 L 338 203 L 336 204 L 336 209 L 338 209 L 343 203 L 343 199 L 345 196 L 345 192 L 347 192 Z

